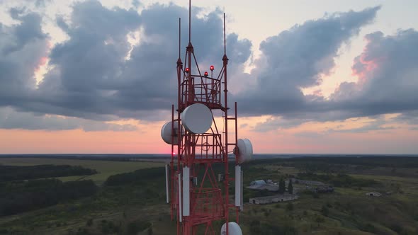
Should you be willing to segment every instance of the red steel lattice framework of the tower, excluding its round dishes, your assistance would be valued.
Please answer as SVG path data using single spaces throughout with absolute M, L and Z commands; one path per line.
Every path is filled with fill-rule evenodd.
M 189 30 L 188 45 L 184 63 L 180 58 L 176 62 L 178 79 L 177 108 L 171 108 L 171 162 L 169 168 L 170 183 L 167 183 L 167 202 L 171 205 L 171 219 L 177 220 L 177 234 L 189 235 L 204 231 L 204 234 L 218 234 L 213 222 L 221 221 L 228 224 L 230 212 L 235 212 L 235 221 L 238 222 L 239 210 L 242 209 L 242 198 L 233 203 L 230 200 L 230 183 L 235 178 L 230 177 L 228 169 L 228 154 L 237 149 L 237 103 L 235 103 L 234 116 L 228 116 L 227 105 L 227 64 L 226 38 L 225 38 L 225 13 L 224 13 L 224 55 L 222 68 L 218 76 L 213 77 L 213 66 L 210 74 L 200 71 L 198 62 L 191 43 L 191 2 L 189 1 Z M 179 19 L 179 43 L 180 43 L 180 19 Z M 217 125 L 213 117 L 213 126 L 208 132 L 194 134 L 184 130 L 181 122 L 181 113 L 190 105 L 201 103 L 206 105 L 211 112 L 222 113 L 225 130 Z M 233 122 L 233 123 L 230 123 Z M 234 125 L 235 132 L 229 135 L 228 127 Z M 176 130 L 175 130 L 176 129 Z M 231 137 L 233 135 L 233 137 Z M 175 154 L 176 153 L 176 154 Z M 233 159 L 230 159 L 233 160 Z M 235 165 L 238 165 L 235 157 Z M 215 173 L 220 169 L 220 174 Z M 239 168 L 240 171 L 240 168 Z M 235 174 L 235 177 L 241 176 Z M 241 180 L 239 180 L 241 182 Z M 240 186 L 241 187 L 241 186 Z M 240 191 L 241 192 L 241 191 Z M 237 195 L 235 195 L 237 196 Z M 242 197 L 242 193 L 239 193 Z M 216 232 L 215 232 L 216 230 Z M 226 234 L 228 234 L 228 226 Z

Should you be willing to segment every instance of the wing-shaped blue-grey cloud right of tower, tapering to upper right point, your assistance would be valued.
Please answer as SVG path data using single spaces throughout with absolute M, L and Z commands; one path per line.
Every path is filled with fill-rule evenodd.
M 321 75 L 335 65 L 339 47 L 371 23 L 379 8 L 306 21 L 261 42 L 262 55 L 251 74 L 256 84 L 237 94 L 240 110 L 247 115 L 292 117 L 311 112 L 312 103 L 323 103 L 323 98 L 304 96 L 301 88 L 321 84 Z

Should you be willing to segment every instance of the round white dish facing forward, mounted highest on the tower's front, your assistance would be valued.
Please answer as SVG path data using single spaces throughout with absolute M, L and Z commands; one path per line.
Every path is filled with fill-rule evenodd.
M 181 122 L 189 132 L 203 134 L 212 126 L 213 115 L 210 109 L 201 103 L 188 106 L 181 113 Z

